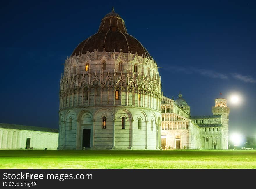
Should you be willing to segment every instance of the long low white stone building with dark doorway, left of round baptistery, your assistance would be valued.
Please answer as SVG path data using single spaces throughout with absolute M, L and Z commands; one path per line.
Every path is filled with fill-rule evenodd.
M 0 123 L 0 149 L 57 149 L 58 130 Z

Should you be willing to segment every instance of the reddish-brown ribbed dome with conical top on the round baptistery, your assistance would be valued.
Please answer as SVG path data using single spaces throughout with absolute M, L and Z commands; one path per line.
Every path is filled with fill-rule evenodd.
M 151 58 L 145 47 L 127 33 L 124 20 L 114 12 L 113 8 L 112 12 L 102 19 L 98 32 L 82 41 L 73 51 L 72 56 L 85 54 L 87 50 L 93 52 L 95 49 L 106 52 L 119 52 L 122 49 L 125 53 L 137 52 L 139 56 Z

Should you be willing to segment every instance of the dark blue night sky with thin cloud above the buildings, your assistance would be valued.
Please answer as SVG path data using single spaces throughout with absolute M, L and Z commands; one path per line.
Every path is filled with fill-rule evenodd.
M 230 133 L 256 135 L 256 4 L 253 1 L 4 1 L 0 122 L 58 128 L 65 58 L 115 11 L 160 67 L 164 95 L 179 91 L 191 115 L 239 93 Z M 158 3 L 158 4 L 157 4 Z

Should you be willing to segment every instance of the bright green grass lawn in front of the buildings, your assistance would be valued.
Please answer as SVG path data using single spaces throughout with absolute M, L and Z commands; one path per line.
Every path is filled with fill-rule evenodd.
M 256 151 L 0 150 L 0 168 L 256 168 Z

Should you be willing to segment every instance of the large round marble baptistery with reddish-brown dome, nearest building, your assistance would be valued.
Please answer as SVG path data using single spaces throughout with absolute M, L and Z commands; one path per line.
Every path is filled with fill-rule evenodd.
M 112 10 L 65 61 L 58 149 L 161 149 L 157 63 Z

